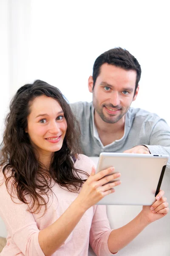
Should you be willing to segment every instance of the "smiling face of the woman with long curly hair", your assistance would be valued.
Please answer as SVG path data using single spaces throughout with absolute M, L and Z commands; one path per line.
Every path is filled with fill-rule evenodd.
M 57 100 L 44 95 L 35 98 L 26 132 L 40 156 L 60 150 L 66 130 L 67 122 Z

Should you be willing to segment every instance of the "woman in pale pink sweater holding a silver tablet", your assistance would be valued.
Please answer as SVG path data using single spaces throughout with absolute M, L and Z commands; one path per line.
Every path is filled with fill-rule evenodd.
M 169 211 L 160 191 L 154 211 L 143 207 L 111 230 L 105 206 L 95 204 L 114 192 L 120 182 L 108 181 L 120 174 L 95 174 L 91 160 L 77 154 L 74 122 L 60 91 L 43 81 L 12 99 L 1 151 L 0 215 L 8 231 L 1 256 L 87 256 L 89 241 L 97 255 L 109 256 Z

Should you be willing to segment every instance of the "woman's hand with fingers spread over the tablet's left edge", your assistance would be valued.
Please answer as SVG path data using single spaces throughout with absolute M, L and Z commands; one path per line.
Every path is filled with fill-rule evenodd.
M 114 167 L 102 170 L 101 172 L 95 174 L 95 168 L 92 167 L 91 175 L 88 177 L 88 180 L 86 180 L 86 182 L 83 184 L 79 196 L 77 197 L 77 200 L 79 200 L 81 207 L 85 207 L 85 210 L 87 210 L 88 208 L 99 202 L 105 195 L 115 192 L 113 187 L 118 186 L 121 181 L 111 181 L 120 177 L 121 174 L 111 174 L 112 172 L 114 172 Z

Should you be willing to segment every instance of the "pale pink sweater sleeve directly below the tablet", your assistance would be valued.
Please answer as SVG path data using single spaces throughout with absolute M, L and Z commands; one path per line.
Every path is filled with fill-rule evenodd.
M 108 248 L 108 238 L 111 231 L 106 214 L 106 206 L 94 206 L 94 217 L 90 230 L 90 245 L 97 256 L 110 256 L 116 254 L 112 254 Z

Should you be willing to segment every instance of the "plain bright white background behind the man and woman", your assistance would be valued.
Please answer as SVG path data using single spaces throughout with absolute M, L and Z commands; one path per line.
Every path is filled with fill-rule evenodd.
M 94 61 L 113 47 L 129 50 L 142 67 L 139 96 L 132 106 L 155 112 L 170 125 L 168 3 L 168 0 L 0 0 L 0 138 L 8 102 L 27 82 L 47 81 L 59 87 L 69 102 L 91 101 L 87 81 Z M 166 219 L 163 221 L 166 223 Z M 161 225 L 152 227 L 160 230 Z M 152 227 L 152 235 L 147 231 L 150 237 Z M 5 236 L 2 222 L 0 231 Z M 143 234 L 137 238 L 139 244 L 144 241 Z M 135 241 L 126 247 L 125 255 L 132 252 L 137 255 L 134 247 L 129 254 L 126 251 L 135 246 Z M 156 244 L 157 241 L 155 249 Z M 160 248 L 162 251 L 164 246 Z M 159 250 L 154 255 L 160 255 Z

